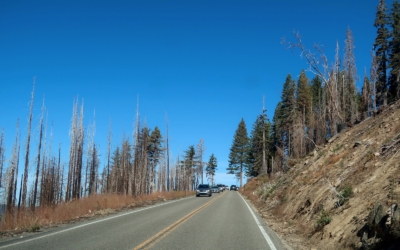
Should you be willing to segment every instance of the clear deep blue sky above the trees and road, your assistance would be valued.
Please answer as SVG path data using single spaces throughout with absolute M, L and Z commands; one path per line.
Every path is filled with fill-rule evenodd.
M 163 135 L 168 114 L 173 157 L 203 138 L 204 160 L 211 153 L 218 159 L 217 182 L 236 184 L 225 173 L 241 118 L 250 132 L 265 95 L 272 119 L 287 74 L 297 78 L 307 68 L 299 51 L 286 50 L 281 38 L 294 41 L 297 30 L 307 47 L 324 45 L 332 63 L 336 41 L 343 56 L 350 27 L 362 79 L 371 63 L 377 5 L 378 0 L 3 1 L 0 129 L 6 157 L 18 118 L 24 154 L 36 76 L 31 170 L 43 98 L 53 149 L 62 144 L 64 162 L 74 99 L 84 99 L 86 125 L 95 111 L 103 166 L 110 119 L 115 148 L 124 133 L 132 135 L 139 97 L 141 120 Z M 22 166 L 23 161 L 20 173 Z

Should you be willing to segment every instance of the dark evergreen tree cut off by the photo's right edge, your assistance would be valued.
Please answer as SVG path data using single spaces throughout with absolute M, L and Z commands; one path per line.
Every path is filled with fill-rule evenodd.
M 390 68 L 390 75 L 388 85 L 389 101 L 393 102 L 400 99 L 400 4 L 397 0 L 393 2 L 389 23 L 392 30 L 389 42 L 388 68 Z

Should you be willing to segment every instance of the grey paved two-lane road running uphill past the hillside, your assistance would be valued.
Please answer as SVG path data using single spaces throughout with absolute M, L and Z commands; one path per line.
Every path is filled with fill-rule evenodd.
M 284 249 L 236 191 L 12 238 L 0 249 Z

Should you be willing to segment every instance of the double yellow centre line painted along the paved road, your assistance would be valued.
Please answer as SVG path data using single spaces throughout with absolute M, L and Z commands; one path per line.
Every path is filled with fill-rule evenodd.
M 225 194 L 225 193 L 224 193 Z M 222 195 L 224 195 L 222 194 Z M 206 204 L 204 204 L 203 206 L 193 210 L 192 212 L 188 213 L 187 215 L 185 215 L 184 217 L 182 217 L 181 219 L 177 220 L 176 222 L 172 223 L 171 225 L 169 225 L 168 227 L 164 228 L 163 230 L 161 230 L 160 232 L 158 232 L 157 234 L 155 234 L 154 236 L 150 237 L 149 239 L 147 239 L 146 241 L 144 241 L 143 243 L 141 243 L 140 245 L 138 245 L 137 247 L 135 247 L 133 250 L 139 250 L 139 249 L 150 249 L 152 246 L 154 246 L 157 242 L 159 242 L 160 240 L 162 240 L 163 238 L 165 238 L 167 235 L 169 235 L 171 232 L 173 232 L 175 229 L 177 229 L 180 225 L 182 225 L 184 222 L 186 222 L 187 220 L 189 220 L 190 218 L 192 218 L 195 214 L 197 214 L 198 212 L 200 212 L 201 210 L 203 210 L 204 208 L 208 207 L 211 203 L 213 203 L 214 201 L 216 201 L 217 199 L 221 198 L 222 195 L 218 196 L 215 199 L 212 199 L 211 201 L 207 202 Z

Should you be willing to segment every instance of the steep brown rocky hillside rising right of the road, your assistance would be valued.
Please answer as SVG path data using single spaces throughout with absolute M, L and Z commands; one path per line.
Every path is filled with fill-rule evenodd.
M 292 249 L 400 249 L 400 102 L 242 193 Z

